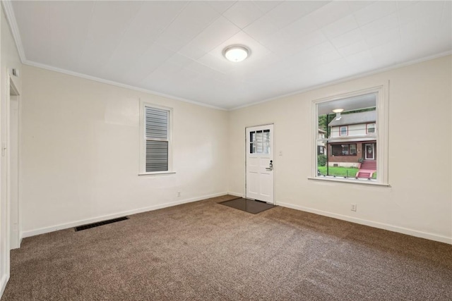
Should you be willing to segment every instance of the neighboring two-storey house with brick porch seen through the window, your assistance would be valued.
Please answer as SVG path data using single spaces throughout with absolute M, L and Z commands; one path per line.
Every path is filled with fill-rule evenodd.
M 376 171 L 376 111 L 336 115 L 328 126 L 328 166 Z M 363 175 L 360 175 L 363 176 Z

